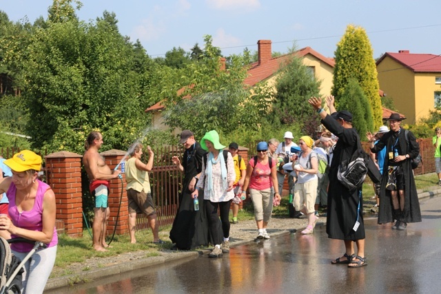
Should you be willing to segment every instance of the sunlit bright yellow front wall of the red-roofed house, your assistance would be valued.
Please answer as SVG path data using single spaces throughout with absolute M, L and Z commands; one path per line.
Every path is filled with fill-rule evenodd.
M 435 109 L 434 92 L 441 91 L 441 85 L 435 84 L 435 77 L 440 73 L 421 72 L 415 75 L 416 121 L 428 117 L 429 111 Z

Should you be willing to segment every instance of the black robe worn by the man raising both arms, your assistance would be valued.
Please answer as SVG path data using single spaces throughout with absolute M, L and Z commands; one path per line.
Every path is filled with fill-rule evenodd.
M 358 148 L 358 140 L 360 140 L 360 138 L 358 137 L 356 129 L 345 129 L 329 115 L 322 120 L 322 124 L 329 129 L 332 134 L 338 136 L 338 141 L 334 149 L 334 157 L 332 158 L 331 167 L 329 168 L 326 224 L 328 238 L 352 241 L 365 239 L 361 189 L 350 192 L 337 178 L 340 162 L 351 158 L 353 152 Z M 356 224 L 357 218 L 360 225 L 357 231 L 354 231 L 353 226 Z

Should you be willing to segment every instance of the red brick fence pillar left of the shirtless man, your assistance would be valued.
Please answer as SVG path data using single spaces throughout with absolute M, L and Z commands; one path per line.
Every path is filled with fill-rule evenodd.
M 45 156 L 48 182 L 57 202 L 56 218 L 64 223 L 65 233 L 72 237 L 83 235 L 81 158 L 83 156 L 68 151 Z

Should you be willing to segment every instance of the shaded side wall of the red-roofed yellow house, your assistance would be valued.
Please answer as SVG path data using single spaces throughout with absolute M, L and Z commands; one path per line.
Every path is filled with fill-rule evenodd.
M 384 94 L 392 98 L 398 112 L 407 117 L 406 123 L 416 121 L 415 79 L 413 72 L 386 56 L 377 65 L 378 83 Z

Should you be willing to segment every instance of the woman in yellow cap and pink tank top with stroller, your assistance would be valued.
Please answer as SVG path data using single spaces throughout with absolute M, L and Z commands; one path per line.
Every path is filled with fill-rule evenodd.
M 0 182 L 0 193 L 9 199 L 9 218 L 0 216 L 0 229 L 7 230 L 12 238 L 26 238 L 48 244 L 39 249 L 25 263 L 22 293 L 43 293 L 57 256 L 58 236 L 55 229 L 55 195 L 50 186 L 41 182 L 41 156 L 23 150 L 5 165 L 12 170 L 12 177 Z M 11 244 L 12 253 L 23 258 L 32 250 L 28 243 Z

